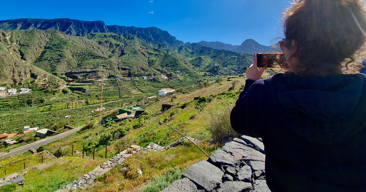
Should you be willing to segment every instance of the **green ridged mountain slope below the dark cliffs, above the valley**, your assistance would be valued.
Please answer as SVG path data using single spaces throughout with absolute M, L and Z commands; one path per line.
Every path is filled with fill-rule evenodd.
M 70 36 L 37 29 L 0 33 L 0 84 L 25 84 L 55 76 L 104 79 L 134 72 L 161 74 L 163 68 L 229 75 L 241 73 L 251 63 L 247 54 L 198 44 L 163 46 L 131 34 Z

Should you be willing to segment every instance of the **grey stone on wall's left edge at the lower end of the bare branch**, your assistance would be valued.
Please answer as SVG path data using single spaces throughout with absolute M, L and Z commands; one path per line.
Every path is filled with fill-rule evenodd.
M 239 160 L 223 150 L 217 150 L 214 154 L 211 155 L 211 157 L 208 159 L 208 162 L 212 163 L 217 167 L 225 165 L 236 167 L 238 166 Z

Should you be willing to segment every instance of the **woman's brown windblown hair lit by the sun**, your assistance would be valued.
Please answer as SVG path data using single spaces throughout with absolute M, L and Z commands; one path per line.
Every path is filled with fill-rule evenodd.
M 365 43 L 360 0 L 295 1 L 283 20 L 285 46 L 294 49 L 291 58 L 299 61 L 292 71 L 299 75 L 340 74 L 341 62 L 354 61 L 352 55 Z

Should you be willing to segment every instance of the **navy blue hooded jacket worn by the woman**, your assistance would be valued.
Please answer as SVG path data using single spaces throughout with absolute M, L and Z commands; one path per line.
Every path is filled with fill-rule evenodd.
M 262 138 L 271 191 L 366 191 L 366 75 L 246 80 L 230 118 Z

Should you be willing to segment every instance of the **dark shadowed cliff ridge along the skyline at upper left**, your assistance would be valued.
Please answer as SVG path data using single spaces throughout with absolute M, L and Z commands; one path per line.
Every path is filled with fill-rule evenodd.
M 82 21 L 76 19 L 10 19 L 0 21 L 0 29 L 7 31 L 31 30 L 31 29 L 55 29 L 67 35 L 83 35 L 88 33 L 121 33 L 132 34 L 138 38 L 145 39 L 162 45 L 181 45 L 176 37 L 170 35 L 168 31 L 163 31 L 157 27 L 126 27 L 118 25 L 105 25 L 103 21 Z

